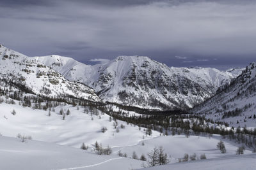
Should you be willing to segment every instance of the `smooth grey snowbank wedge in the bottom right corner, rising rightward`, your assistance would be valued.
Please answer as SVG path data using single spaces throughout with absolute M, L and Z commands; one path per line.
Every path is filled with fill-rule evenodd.
M 144 170 L 183 170 L 183 169 L 195 169 L 195 170 L 253 170 L 256 169 L 256 153 L 248 155 L 230 155 L 226 157 L 220 157 L 215 159 L 197 160 L 193 162 L 182 162 L 177 164 L 168 164 L 166 166 L 151 167 Z

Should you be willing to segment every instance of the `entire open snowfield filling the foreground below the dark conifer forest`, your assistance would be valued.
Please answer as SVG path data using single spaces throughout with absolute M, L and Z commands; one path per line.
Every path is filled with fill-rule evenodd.
M 244 151 L 246 155 L 236 157 L 240 145 L 228 139 L 223 140 L 227 153 L 220 153 L 216 148 L 221 139 L 218 135 L 186 138 L 184 135 L 160 136 L 159 132 L 153 131 L 152 136 L 146 136 L 143 128 L 122 121 L 117 121 L 120 132 L 116 132 L 114 121 L 109 121 L 109 115 L 100 111 L 99 115 L 93 115 L 84 113 L 83 108 L 77 110 L 77 107 L 63 105 L 54 108 L 49 117 L 49 111 L 24 108 L 17 103 L 1 104 L 0 169 L 140 169 L 143 161 L 131 159 L 132 153 L 136 152 L 138 158 L 142 154 L 147 158 L 147 153 L 159 146 L 163 146 L 170 163 L 174 164 L 156 167 L 158 169 L 187 169 L 188 166 L 198 169 L 201 164 L 202 169 L 222 169 L 219 162 L 224 164 L 223 168 L 238 162 L 253 169 L 250 162 L 256 161 L 255 155 L 248 154 L 252 153 L 250 150 Z M 64 120 L 59 114 L 61 108 L 64 112 L 70 110 Z M 12 110 L 16 115 L 12 115 Z M 124 128 L 120 127 L 122 124 Z M 103 133 L 102 127 L 108 130 Z M 16 138 L 17 134 L 31 136 L 33 140 L 22 143 Z M 103 147 L 109 145 L 113 153 L 97 155 L 95 141 Z M 87 151 L 79 149 L 82 143 L 88 146 Z M 127 158 L 118 157 L 118 151 L 127 153 Z M 196 153 L 197 157 L 205 153 L 207 160 L 175 164 L 184 153 Z

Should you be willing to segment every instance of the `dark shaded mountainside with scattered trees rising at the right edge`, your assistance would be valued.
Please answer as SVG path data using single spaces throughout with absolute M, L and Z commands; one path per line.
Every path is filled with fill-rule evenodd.
M 207 117 L 225 120 L 238 125 L 255 125 L 256 113 L 256 63 L 252 62 L 229 85 L 224 85 L 218 94 L 193 109 Z

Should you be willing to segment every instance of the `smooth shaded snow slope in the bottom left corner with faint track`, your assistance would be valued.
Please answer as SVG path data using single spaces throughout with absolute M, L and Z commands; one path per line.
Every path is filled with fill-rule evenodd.
M 97 155 L 77 148 L 0 136 L 0 169 L 72 170 L 137 169 L 140 160 L 117 155 Z

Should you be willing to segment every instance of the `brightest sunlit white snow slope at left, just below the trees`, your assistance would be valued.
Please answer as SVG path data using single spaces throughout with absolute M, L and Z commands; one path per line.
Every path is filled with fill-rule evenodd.
M 83 108 L 77 110 L 77 107 L 70 105 L 58 106 L 55 112 L 51 112 L 51 117 L 47 116 L 48 111 L 32 110 L 19 104 L 2 103 L 0 108 L 0 133 L 4 136 L 15 137 L 20 133 L 30 135 L 36 140 L 76 148 L 79 148 L 83 142 L 94 148 L 95 141 L 102 143 L 104 147 L 136 145 L 145 136 L 145 132 L 138 131 L 137 126 L 127 125 L 126 122 L 118 120 L 120 132 L 116 132 L 113 121 L 109 122 L 108 115 L 99 114 L 100 118 L 96 115 L 91 116 L 91 113 L 83 113 Z M 68 109 L 71 112 L 65 120 L 62 120 L 62 115 L 59 114 L 61 108 L 64 113 Z M 13 109 L 17 112 L 15 116 L 11 113 Z M 121 124 L 125 125 L 125 129 L 120 128 Z M 107 127 L 108 131 L 102 133 L 102 127 Z M 154 131 L 152 136 L 147 136 L 145 139 L 156 136 L 159 136 L 159 132 Z

